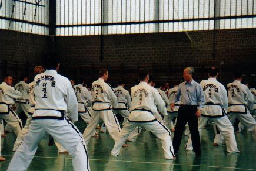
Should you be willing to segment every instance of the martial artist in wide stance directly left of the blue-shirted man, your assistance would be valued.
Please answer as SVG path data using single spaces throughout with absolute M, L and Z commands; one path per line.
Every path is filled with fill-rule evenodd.
M 115 141 L 111 155 L 118 156 L 129 133 L 136 126 L 142 126 L 161 139 L 165 159 L 174 159 L 171 132 L 161 122 L 157 121 L 153 115 L 157 111 L 156 105 L 158 105 L 158 109 L 162 114 L 167 115 L 164 101 L 158 91 L 147 84 L 149 80 L 148 71 L 140 70 L 139 78 L 141 83 L 131 88 L 131 114 L 118 135 L 117 141 Z

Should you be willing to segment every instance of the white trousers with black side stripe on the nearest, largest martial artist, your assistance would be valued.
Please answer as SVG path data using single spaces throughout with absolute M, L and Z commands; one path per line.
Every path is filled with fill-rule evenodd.
M 8 171 L 28 169 L 38 148 L 38 143 L 45 137 L 46 133 L 68 150 L 72 156 L 72 165 L 75 171 L 89 170 L 88 153 L 84 139 L 77 127 L 64 118 L 63 120 L 32 119 L 28 134 L 24 136 L 24 142 L 16 150 L 9 163 Z

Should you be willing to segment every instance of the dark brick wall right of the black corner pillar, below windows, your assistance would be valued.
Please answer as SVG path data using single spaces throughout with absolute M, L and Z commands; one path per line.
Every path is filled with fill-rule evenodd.
M 57 51 L 62 57 L 62 73 L 76 80 L 97 78 L 98 69 L 109 69 L 109 81 L 116 84 L 124 78 L 132 84 L 140 67 L 149 68 L 157 82 L 174 83 L 182 80 L 185 66 L 195 67 L 196 80 L 207 78 L 205 67 L 220 67 L 221 81 L 232 80 L 231 71 L 241 69 L 245 80 L 254 81 L 256 64 L 256 29 L 218 30 L 216 57 L 212 57 L 214 34 L 209 31 L 177 33 L 150 33 L 134 35 L 105 35 L 104 60 L 100 56 L 100 36 L 56 37 Z M 84 67 L 81 65 L 85 65 Z

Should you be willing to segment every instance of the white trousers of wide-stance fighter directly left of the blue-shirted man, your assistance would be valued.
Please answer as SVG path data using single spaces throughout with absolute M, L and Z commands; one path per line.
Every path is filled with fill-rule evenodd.
M 174 159 L 174 151 L 171 142 L 171 132 L 161 122 L 155 120 L 151 122 L 131 122 L 127 121 L 118 135 L 117 141 L 115 141 L 114 148 L 111 151 L 112 156 L 118 156 L 122 145 L 126 141 L 128 135 L 137 127 L 144 127 L 148 131 L 152 132 L 161 139 L 162 148 L 164 149 L 165 159 Z

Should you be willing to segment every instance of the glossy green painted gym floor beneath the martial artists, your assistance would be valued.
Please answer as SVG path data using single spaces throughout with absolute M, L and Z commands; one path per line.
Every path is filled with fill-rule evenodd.
M 79 120 L 75 125 L 81 132 L 85 124 Z M 173 134 L 172 134 L 173 135 Z M 195 158 L 194 152 L 185 151 L 188 137 L 182 139 L 181 149 L 176 160 L 165 160 L 161 142 L 148 131 L 143 131 L 135 142 L 128 142 L 118 157 L 110 156 L 114 141 L 101 133 L 98 138 L 91 138 L 87 147 L 91 170 L 256 170 L 256 133 L 236 133 L 238 149 L 241 153 L 230 154 L 225 151 L 225 144 L 212 146 L 214 132 L 208 124 L 202 132 L 201 158 Z M 2 155 L 7 159 L 0 162 L 0 170 L 6 170 L 14 153 L 15 135 L 9 133 L 2 138 Z M 59 155 L 56 146 L 48 146 L 48 138 L 39 143 L 38 152 L 28 170 L 72 170 L 71 157 Z

